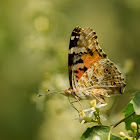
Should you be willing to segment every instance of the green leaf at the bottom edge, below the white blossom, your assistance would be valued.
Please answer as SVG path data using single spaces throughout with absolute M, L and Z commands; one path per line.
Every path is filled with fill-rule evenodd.
M 93 126 L 91 128 L 87 128 L 87 130 L 81 136 L 81 140 L 93 140 L 93 138 L 96 136 L 98 136 L 100 140 L 108 140 L 109 131 L 109 126 Z M 121 138 L 111 135 L 110 140 L 121 140 Z

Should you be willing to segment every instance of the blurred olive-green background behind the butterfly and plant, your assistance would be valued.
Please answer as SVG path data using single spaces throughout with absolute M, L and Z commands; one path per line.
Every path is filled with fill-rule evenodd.
M 67 55 L 75 26 L 93 28 L 123 73 L 125 94 L 108 99 L 105 124 L 123 117 L 140 85 L 139 0 L 1 0 L 1 140 L 77 140 L 93 125 L 74 120 L 78 114 L 66 97 L 37 97 L 44 89 L 69 87 Z

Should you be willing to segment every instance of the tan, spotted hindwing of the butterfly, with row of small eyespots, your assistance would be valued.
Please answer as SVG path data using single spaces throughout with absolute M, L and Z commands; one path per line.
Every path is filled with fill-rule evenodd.
M 95 96 L 108 96 L 122 94 L 126 85 L 117 67 L 109 59 L 101 59 L 82 75 L 77 88 L 81 86 Z

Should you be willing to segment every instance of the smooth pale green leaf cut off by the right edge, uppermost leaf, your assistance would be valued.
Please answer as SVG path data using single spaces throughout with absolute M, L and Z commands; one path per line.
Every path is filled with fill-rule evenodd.
M 136 92 L 134 94 L 134 98 L 132 99 L 131 103 L 133 104 L 135 113 L 140 115 L 140 92 Z

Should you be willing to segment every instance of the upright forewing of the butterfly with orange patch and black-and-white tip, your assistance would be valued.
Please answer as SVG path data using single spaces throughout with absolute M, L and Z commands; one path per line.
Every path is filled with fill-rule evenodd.
M 98 45 L 96 32 L 90 28 L 76 27 L 71 34 L 69 45 L 69 81 L 76 88 L 81 76 L 90 66 L 101 59 L 107 58 Z

